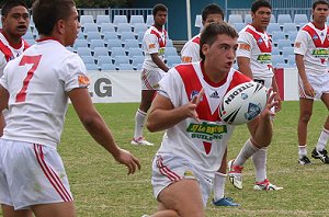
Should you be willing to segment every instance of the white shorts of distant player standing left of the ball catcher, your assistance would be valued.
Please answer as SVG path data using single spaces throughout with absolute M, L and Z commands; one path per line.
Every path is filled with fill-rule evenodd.
M 141 90 L 158 90 L 159 81 L 162 79 L 163 75 L 164 72 L 161 69 L 143 69 L 140 75 Z

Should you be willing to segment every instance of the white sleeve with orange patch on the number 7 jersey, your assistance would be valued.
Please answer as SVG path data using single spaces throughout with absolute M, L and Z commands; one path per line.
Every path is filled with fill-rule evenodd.
M 65 78 L 65 91 L 69 92 L 76 88 L 88 88 L 90 84 L 89 78 L 87 76 L 87 69 L 82 59 L 73 54 L 67 58 L 67 67 L 65 70 L 68 75 Z

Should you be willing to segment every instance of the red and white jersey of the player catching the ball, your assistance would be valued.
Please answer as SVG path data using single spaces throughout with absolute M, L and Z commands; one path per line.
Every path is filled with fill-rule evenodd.
M 169 70 L 160 81 L 158 93 L 174 107 L 189 103 L 203 88 L 205 94 L 196 112 L 201 122 L 185 118 L 167 129 L 158 153 L 171 153 L 188 159 L 205 173 L 218 170 L 222 157 L 234 130 L 219 118 L 218 106 L 224 94 L 250 78 L 231 69 L 224 81 L 213 83 L 202 71 L 202 61 L 184 64 Z

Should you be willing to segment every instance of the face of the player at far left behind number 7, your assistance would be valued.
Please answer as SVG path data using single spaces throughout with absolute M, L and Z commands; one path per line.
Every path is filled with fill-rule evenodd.
M 12 8 L 7 16 L 2 16 L 2 30 L 13 39 L 25 35 L 29 24 L 29 12 L 22 5 Z

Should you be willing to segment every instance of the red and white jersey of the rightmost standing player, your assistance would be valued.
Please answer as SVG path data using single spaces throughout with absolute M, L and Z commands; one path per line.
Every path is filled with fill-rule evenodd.
M 318 30 L 311 22 L 303 26 L 295 41 L 294 53 L 304 55 L 305 71 L 319 75 L 328 72 L 328 26 Z

